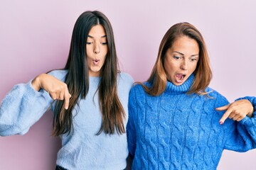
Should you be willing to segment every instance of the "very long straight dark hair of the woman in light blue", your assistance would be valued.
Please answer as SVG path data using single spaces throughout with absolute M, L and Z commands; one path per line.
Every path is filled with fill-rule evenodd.
M 64 69 L 68 70 L 65 83 L 71 94 L 68 110 L 64 101 L 57 101 L 54 110 L 53 135 L 62 135 L 73 130 L 73 113 L 78 99 L 85 98 L 89 90 L 89 73 L 87 67 L 86 40 L 90 29 L 100 24 L 107 35 L 107 56 L 100 71 L 99 103 L 102 112 L 102 125 L 97 135 L 122 134 L 125 132 L 123 118 L 124 108 L 117 96 L 117 52 L 114 45 L 114 33 L 107 17 L 100 11 L 85 11 L 75 23 L 70 44 L 68 61 Z

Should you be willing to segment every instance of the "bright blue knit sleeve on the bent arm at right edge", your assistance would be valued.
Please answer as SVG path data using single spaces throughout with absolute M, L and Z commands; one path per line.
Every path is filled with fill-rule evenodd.
M 253 107 L 256 108 L 255 97 L 238 98 L 249 100 Z M 233 120 L 231 120 L 233 121 Z M 230 127 L 229 137 L 225 144 L 225 149 L 237 152 L 246 152 L 256 147 L 256 112 L 252 118 L 245 117 L 240 122 L 233 122 Z

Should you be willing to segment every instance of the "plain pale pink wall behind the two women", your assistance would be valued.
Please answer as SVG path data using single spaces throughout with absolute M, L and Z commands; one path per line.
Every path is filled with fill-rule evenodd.
M 74 23 L 86 10 L 100 10 L 114 28 L 121 70 L 137 81 L 149 77 L 161 38 L 174 23 L 187 21 L 203 34 L 213 81 L 233 101 L 255 96 L 256 2 L 23 0 L 0 4 L 0 101 L 14 84 L 64 67 Z M 50 170 L 60 140 L 51 137 L 46 113 L 26 135 L 0 137 L 0 169 Z M 225 151 L 218 169 L 254 169 L 256 150 Z

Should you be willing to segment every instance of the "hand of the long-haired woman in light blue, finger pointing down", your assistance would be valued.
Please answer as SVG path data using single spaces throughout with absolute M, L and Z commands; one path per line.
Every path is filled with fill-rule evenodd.
M 32 80 L 33 89 L 39 91 L 44 89 L 53 100 L 65 100 L 64 107 L 68 109 L 71 95 L 68 92 L 68 86 L 63 81 L 56 79 L 49 74 L 40 74 Z

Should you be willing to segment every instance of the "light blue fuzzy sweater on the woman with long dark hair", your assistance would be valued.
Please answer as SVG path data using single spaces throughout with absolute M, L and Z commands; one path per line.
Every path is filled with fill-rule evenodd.
M 50 74 L 64 81 L 67 71 L 58 70 Z M 102 123 L 98 92 L 95 94 L 99 82 L 100 77 L 90 77 L 88 94 L 85 99 L 80 100 L 80 108 L 75 107 L 74 110 L 78 110 L 78 113 L 75 115 L 73 111 L 73 134 L 60 136 L 62 147 L 58 152 L 57 164 L 65 169 L 120 170 L 126 166 L 127 135 L 106 135 L 104 132 L 95 135 Z M 117 91 L 125 113 L 133 82 L 129 74 L 121 73 L 118 76 Z M 46 91 L 34 91 L 31 81 L 14 86 L 1 103 L 0 135 L 25 134 L 47 111 L 52 101 Z M 127 124 L 127 117 L 124 125 Z

